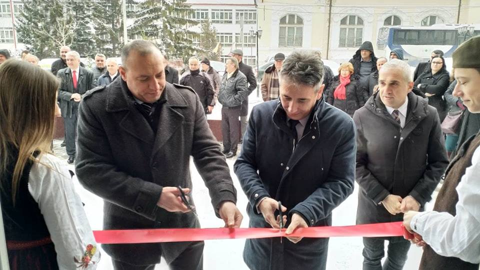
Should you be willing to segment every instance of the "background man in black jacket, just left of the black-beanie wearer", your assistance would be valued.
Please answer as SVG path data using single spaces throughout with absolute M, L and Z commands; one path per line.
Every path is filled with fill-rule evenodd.
M 205 113 L 211 113 L 215 92 L 213 91 L 213 86 L 210 83 L 208 74 L 200 71 L 200 60 L 195 56 L 188 59 L 188 68 L 190 72 L 180 79 L 180 84 L 190 86 L 200 98 L 203 111 Z

